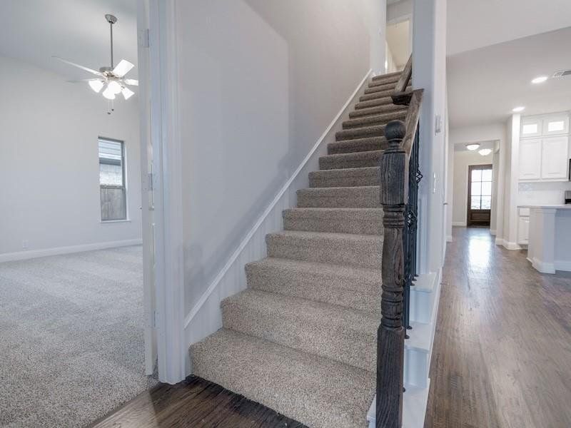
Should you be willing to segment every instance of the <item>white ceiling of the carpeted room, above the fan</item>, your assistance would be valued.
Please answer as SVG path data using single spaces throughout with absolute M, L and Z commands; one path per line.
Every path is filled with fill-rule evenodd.
M 66 78 L 91 76 L 51 56 L 98 69 L 108 66 L 109 24 L 113 26 L 115 63 L 137 60 L 136 0 L 1 0 L 0 55 L 33 63 Z M 128 77 L 136 78 L 136 69 Z

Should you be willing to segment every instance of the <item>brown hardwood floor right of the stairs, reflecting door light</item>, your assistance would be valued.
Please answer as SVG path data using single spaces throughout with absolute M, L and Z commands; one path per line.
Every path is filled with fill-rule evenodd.
M 571 275 L 454 228 L 425 427 L 571 426 Z

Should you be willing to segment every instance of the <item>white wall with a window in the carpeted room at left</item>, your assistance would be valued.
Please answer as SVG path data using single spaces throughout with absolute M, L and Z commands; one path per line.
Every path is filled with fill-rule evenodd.
M 0 57 L 0 254 L 141 239 L 136 98 Z M 128 223 L 101 223 L 98 136 L 125 141 Z M 21 255 L 20 255 L 21 256 Z

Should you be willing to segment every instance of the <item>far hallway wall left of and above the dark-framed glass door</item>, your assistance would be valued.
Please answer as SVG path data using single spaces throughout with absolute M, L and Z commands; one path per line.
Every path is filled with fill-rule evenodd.
M 492 164 L 492 154 L 482 156 L 477 151 L 454 153 L 453 215 L 455 226 L 465 226 L 468 216 L 468 167 L 470 165 Z M 492 217 L 495 211 L 492 210 Z

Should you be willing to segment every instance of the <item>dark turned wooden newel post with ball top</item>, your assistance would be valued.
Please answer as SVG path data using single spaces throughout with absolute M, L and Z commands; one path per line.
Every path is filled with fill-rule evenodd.
M 380 203 L 383 205 L 383 294 L 377 337 L 377 428 L 398 428 L 403 422 L 403 228 L 408 199 L 408 156 L 401 142 L 406 128 L 391 121 L 385 128 L 388 149 L 380 161 Z

